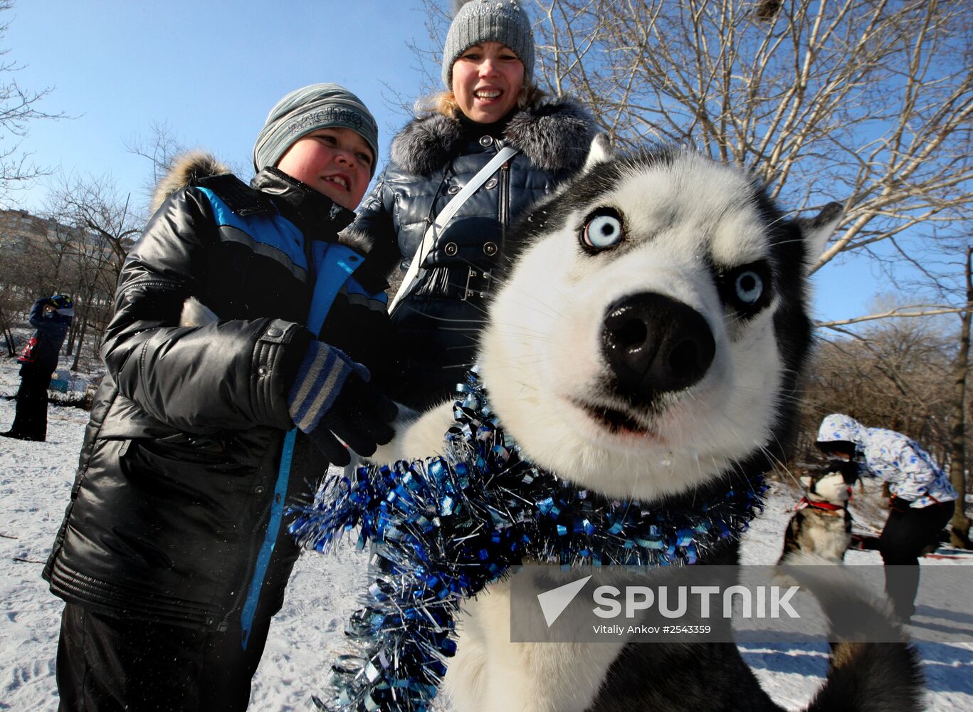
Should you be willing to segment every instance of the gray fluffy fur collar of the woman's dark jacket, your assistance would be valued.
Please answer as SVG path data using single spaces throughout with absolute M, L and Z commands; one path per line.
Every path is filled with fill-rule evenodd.
M 588 156 L 595 126 L 588 110 L 568 98 L 518 111 L 504 140 L 542 170 L 574 170 Z M 392 160 L 415 175 L 429 175 L 462 150 L 462 126 L 442 114 L 414 119 L 392 141 Z

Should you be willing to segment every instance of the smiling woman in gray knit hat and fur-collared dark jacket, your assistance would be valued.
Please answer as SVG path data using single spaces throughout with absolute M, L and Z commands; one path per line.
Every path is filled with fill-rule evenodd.
M 515 0 L 473 0 L 450 24 L 443 83 L 392 142 L 391 162 L 350 231 L 401 254 L 403 271 L 423 234 L 502 147 L 518 153 L 452 217 L 397 304 L 392 345 L 404 361 L 397 400 L 442 402 L 476 355 L 490 270 L 511 249 L 508 227 L 534 200 L 581 167 L 594 135 L 569 99 L 545 100 L 533 83 L 530 22 Z

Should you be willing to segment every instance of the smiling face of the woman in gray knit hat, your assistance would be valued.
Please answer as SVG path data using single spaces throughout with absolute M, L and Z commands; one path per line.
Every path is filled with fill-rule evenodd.
M 492 124 L 517 105 L 523 62 L 506 45 L 473 45 L 452 63 L 452 93 L 460 111 L 478 124 Z

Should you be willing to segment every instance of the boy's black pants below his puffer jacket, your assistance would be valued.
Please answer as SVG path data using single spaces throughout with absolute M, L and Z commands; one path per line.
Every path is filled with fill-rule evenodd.
M 129 621 L 66 604 L 57 644 L 58 712 L 236 712 L 250 701 L 270 619 L 247 649 L 226 633 Z

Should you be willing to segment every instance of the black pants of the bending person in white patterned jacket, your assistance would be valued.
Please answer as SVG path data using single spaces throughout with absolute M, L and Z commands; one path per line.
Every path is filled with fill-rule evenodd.
M 879 551 L 885 564 L 885 591 L 895 615 L 903 620 L 916 612 L 919 554 L 926 546 L 936 544 L 936 536 L 953 516 L 954 508 L 954 502 L 942 502 L 888 513 Z

